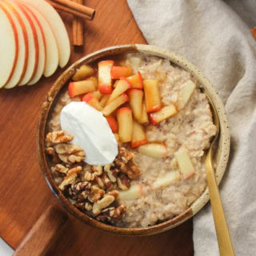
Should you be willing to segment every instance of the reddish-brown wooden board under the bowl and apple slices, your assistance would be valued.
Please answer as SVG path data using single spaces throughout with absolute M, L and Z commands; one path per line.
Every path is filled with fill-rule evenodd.
M 85 23 L 85 45 L 71 49 L 71 63 L 106 46 L 146 43 L 126 0 L 86 0 L 96 10 Z M 60 12 L 70 34 L 72 16 Z M 14 250 L 48 206 L 62 206 L 38 166 L 38 114 L 50 86 L 62 73 L 34 86 L 0 90 L 0 236 Z M 50 255 L 194 255 L 192 220 L 148 237 L 123 237 L 96 230 L 69 215 Z

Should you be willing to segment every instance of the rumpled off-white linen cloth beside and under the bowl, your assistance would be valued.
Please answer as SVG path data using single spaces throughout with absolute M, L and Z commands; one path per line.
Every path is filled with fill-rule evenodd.
M 256 42 L 249 26 L 221 0 L 128 4 L 149 44 L 189 59 L 218 90 L 231 132 L 222 202 L 236 255 L 256 255 Z M 195 255 L 219 254 L 209 203 L 194 217 L 193 238 Z

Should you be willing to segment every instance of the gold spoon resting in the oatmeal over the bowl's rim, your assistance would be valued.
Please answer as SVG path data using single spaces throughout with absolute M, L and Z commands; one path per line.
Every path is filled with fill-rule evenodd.
M 226 224 L 226 218 L 224 214 L 224 210 L 222 207 L 222 199 L 219 194 L 218 185 L 216 182 L 214 167 L 213 167 L 213 147 L 214 144 L 218 141 L 219 134 L 219 119 L 218 113 L 215 109 L 214 103 L 210 99 L 209 95 L 204 90 L 207 98 L 210 101 L 210 106 L 213 112 L 214 125 L 217 128 L 216 135 L 214 137 L 213 142 L 210 145 L 210 148 L 206 154 L 206 178 L 209 187 L 210 193 L 210 204 L 214 215 L 214 224 L 215 230 L 218 238 L 218 249 L 221 256 L 232 256 L 234 255 L 234 249 L 230 238 L 230 232 L 228 230 L 228 226 Z

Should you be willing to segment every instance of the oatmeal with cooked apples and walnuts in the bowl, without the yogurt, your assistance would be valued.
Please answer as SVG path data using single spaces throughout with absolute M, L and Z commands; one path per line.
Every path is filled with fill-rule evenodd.
M 55 182 L 78 209 L 116 226 L 150 226 L 182 214 L 206 189 L 204 155 L 216 133 L 206 95 L 166 59 L 126 54 L 98 64 L 98 84 L 85 77 L 87 91 L 69 86 L 50 116 L 48 131 L 57 134 L 47 135 L 46 152 Z M 72 162 L 72 153 L 59 151 L 73 135 L 60 132 L 62 108 L 81 99 L 102 112 L 117 139 L 110 165 L 90 166 L 79 150 L 81 161 Z

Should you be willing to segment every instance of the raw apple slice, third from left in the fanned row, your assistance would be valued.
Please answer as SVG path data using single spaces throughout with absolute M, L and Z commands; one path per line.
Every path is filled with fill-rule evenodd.
M 26 72 L 24 74 L 24 77 L 20 82 L 18 82 L 18 86 L 25 86 L 30 79 L 34 76 L 34 73 L 38 66 L 38 36 L 37 32 L 34 27 L 34 23 L 32 22 L 30 16 L 26 13 L 25 10 L 22 9 L 16 2 L 10 2 L 4 0 L 7 5 L 10 6 L 10 9 L 13 10 L 13 12 L 17 12 L 19 17 L 22 19 L 22 22 L 24 23 L 27 38 L 28 38 L 28 61 L 27 61 L 27 67 Z

